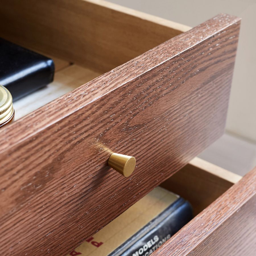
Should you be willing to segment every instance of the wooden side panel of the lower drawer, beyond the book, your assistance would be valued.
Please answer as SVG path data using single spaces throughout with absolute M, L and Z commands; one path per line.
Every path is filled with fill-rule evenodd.
M 241 176 L 196 157 L 161 187 L 188 200 L 195 216 L 240 179 Z

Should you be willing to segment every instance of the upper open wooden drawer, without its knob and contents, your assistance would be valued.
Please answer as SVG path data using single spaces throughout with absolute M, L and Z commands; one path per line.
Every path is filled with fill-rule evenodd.
M 56 63 L 1 129 L 5 252 L 68 253 L 222 135 L 239 18 L 186 31 L 104 1 L 11 0 L 0 21 L 1 37 Z M 137 159 L 128 179 L 112 152 Z

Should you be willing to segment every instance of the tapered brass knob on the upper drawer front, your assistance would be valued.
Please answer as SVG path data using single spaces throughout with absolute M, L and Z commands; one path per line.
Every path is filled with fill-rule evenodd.
M 108 159 L 108 165 L 125 177 L 132 174 L 136 159 L 133 156 L 113 153 Z

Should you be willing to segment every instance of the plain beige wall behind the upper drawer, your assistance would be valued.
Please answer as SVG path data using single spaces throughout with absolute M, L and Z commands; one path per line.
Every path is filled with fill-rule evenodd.
M 194 27 L 218 13 L 242 18 L 226 130 L 256 142 L 256 0 L 108 0 Z

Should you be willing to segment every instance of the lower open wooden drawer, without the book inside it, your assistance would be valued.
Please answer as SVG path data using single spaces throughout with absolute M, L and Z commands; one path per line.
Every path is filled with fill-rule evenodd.
M 254 255 L 255 184 L 256 167 L 240 177 L 194 158 L 162 186 L 189 200 L 196 216 L 152 255 Z

